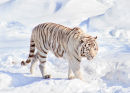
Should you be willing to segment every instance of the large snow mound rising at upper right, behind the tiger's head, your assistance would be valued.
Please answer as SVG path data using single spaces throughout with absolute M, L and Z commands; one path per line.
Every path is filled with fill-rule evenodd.
M 88 31 L 98 31 L 130 45 L 130 1 L 116 0 L 104 14 L 84 21 Z

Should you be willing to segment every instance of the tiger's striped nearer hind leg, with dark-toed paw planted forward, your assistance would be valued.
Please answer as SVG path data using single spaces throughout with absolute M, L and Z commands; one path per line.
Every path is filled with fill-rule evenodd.
M 44 79 L 51 78 L 51 75 L 48 75 L 47 72 L 46 72 L 46 67 L 45 67 L 45 64 L 46 64 L 46 55 L 45 54 L 42 54 L 42 55 L 39 54 L 38 57 L 39 57 L 39 60 L 40 60 L 39 68 L 40 68 L 42 77 Z

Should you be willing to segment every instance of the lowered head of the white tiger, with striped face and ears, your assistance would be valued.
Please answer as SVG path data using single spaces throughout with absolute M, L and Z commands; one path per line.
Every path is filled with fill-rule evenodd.
M 98 52 L 98 44 L 96 42 L 96 37 L 84 38 L 80 41 L 81 44 L 81 56 L 87 57 L 88 60 L 92 60 Z

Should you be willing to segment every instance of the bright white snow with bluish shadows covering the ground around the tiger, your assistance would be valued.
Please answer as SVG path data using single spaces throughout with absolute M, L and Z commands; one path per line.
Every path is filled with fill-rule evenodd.
M 129 0 L 1 0 L 0 93 L 130 93 Z M 96 58 L 82 59 L 85 82 L 68 80 L 68 62 L 48 54 L 42 79 L 37 64 L 21 66 L 33 27 L 55 22 L 98 36 Z

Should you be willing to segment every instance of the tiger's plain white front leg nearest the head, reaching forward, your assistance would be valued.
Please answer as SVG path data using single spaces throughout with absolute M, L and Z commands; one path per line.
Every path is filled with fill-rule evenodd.
M 71 68 L 72 68 L 72 71 L 73 71 L 75 77 L 84 81 L 82 73 L 81 73 L 81 69 L 80 69 L 80 62 L 79 61 L 73 61 L 73 62 L 71 61 L 70 65 L 71 65 Z

